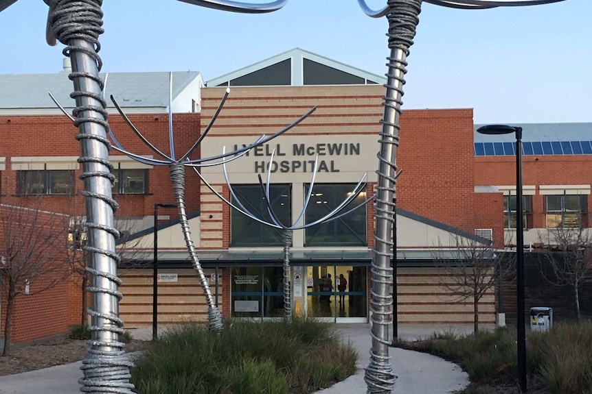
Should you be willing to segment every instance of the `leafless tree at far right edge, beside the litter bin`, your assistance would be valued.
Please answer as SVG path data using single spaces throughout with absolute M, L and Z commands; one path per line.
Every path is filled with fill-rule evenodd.
M 549 275 L 549 270 L 539 263 L 540 274 L 555 286 L 573 289 L 576 319 L 580 323 L 580 289 L 584 284 L 592 283 L 592 232 L 581 225 L 564 226 L 548 229 L 545 236 L 539 234 L 539 239 L 547 250 L 545 262 L 553 275 Z

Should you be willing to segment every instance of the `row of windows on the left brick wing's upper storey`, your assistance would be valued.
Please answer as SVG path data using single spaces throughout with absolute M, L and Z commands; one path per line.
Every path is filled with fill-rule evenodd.
M 148 180 L 147 170 L 115 169 L 115 182 L 111 193 L 145 194 Z M 27 170 L 16 171 L 16 193 L 18 195 L 71 195 L 74 193 L 74 171 L 71 170 Z

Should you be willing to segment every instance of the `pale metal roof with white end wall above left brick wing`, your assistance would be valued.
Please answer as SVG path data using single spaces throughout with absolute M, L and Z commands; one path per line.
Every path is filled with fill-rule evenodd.
M 73 86 L 68 74 L 0 74 L 0 114 L 19 114 L 27 110 L 36 110 L 38 114 L 61 113 L 49 92 L 64 108 L 73 108 L 74 100 L 70 98 Z M 169 75 L 168 72 L 100 73 L 103 80 L 106 78 L 108 108 L 115 108 L 109 99 L 109 95 L 113 95 L 122 108 L 163 112 L 169 105 Z M 190 96 L 198 101 L 199 88 L 203 86 L 201 74 L 196 71 L 172 73 L 172 82 L 173 112 L 190 112 L 191 99 L 185 96 L 190 90 Z

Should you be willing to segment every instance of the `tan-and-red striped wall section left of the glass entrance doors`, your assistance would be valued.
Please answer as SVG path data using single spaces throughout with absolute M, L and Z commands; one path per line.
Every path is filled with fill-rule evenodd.
M 176 273 L 177 282 L 158 283 L 159 323 L 184 323 L 207 321 L 207 304 L 193 269 L 159 269 L 159 273 Z M 207 278 L 214 273 L 205 269 Z M 119 317 L 126 328 L 137 328 L 152 324 L 152 270 L 122 269 L 119 271 L 122 286 L 119 291 L 124 297 L 119 302 Z M 216 287 L 210 284 L 212 293 Z M 218 305 L 223 305 L 223 286 L 218 286 Z

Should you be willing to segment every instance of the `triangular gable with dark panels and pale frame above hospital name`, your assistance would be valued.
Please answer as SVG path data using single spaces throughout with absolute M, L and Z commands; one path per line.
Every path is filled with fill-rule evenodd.
M 350 85 L 386 82 L 386 78 L 380 75 L 295 48 L 210 79 L 205 86 Z

